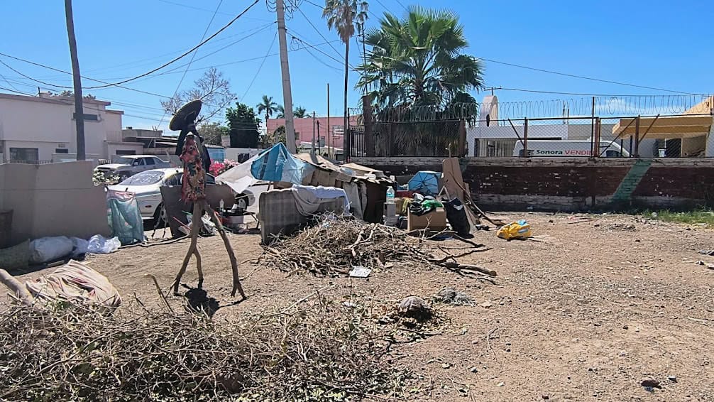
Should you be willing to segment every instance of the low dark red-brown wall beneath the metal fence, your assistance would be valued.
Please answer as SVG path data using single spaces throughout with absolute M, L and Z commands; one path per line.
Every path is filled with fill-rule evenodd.
M 438 158 L 359 158 L 357 164 L 403 176 L 442 171 Z M 635 159 L 465 158 L 463 179 L 491 210 L 608 209 Z M 641 208 L 714 206 L 714 159 L 652 159 L 630 197 Z M 593 204 L 594 201 L 594 204 Z

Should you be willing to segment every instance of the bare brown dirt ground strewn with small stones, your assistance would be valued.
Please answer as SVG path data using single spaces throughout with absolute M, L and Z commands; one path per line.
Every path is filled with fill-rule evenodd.
M 714 401 L 714 231 L 621 215 L 518 213 L 543 241 L 504 241 L 494 231 L 474 241 L 491 250 L 461 258 L 498 272 L 496 285 L 443 268 L 396 266 L 368 280 L 290 276 L 255 263 L 258 235 L 233 235 L 248 300 L 229 296 L 231 273 L 218 237 L 200 241 L 204 288 L 218 299 L 216 319 L 291 305 L 313 291 L 369 303 L 431 299 L 451 286 L 473 306 L 435 305 L 446 318 L 431 336 L 392 347 L 391 360 L 415 374 L 413 401 Z M 443 245 L 458 241 L 446 241 Z M 91 256 L 119 288 L 159 305 L 145 273 L 167 288 L 187 242 Z M 43 272 L 26 277 L 34 278 Z M 189 266 L 184 283 L 195 286 Z M 180 297 L 172 297 L 178 303 Z M 668 378 L 669 377 L 669 378 Z M 645 388 L 653 378 L 661 388 Z

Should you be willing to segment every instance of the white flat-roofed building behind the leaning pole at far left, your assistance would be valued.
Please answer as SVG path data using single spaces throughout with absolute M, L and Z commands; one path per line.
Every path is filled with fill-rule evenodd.
M 108 110 L 110 103 L 84 99 L 86 159 L 111 159 L 119 154 L 141 154 L 144 145 L 125 142 L 121 134 L 124 111 Z M 2 162 L 61 162 L 76 159 L 74 98 L 0 94 L 0 156 Z

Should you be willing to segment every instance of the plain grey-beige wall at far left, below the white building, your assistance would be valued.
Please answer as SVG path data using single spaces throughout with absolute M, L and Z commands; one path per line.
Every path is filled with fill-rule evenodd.
M 42 236 L 109 235 L 104 187 L 91 161 L 0 164 L 0 210 L 13 210 L 11 242 Z

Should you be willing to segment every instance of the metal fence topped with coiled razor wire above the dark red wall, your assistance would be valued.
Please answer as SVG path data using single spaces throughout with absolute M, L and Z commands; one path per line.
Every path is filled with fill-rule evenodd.
M 408 113 L 408 112 L 406 112 Z M 404 116 L 401 115 L 402 117 Z M 453 119 L 392 111 L 374 114 L 346 136 L 350 156 L 551 158 L 713 157 L 711 114 Z M 446 119 L 440 119 L 445 117 Z M 349 144 L 349 145 L 347 145 Z

